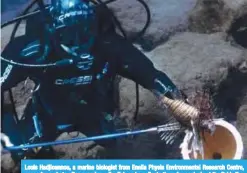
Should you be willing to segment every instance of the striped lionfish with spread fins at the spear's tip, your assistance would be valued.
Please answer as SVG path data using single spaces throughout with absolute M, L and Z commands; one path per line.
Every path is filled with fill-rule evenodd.
M 167 97 L 161 98 L 160 102 L 168 108 L 173 115 L 165 126 L 167 130 L 161 133 L 161 139 L 167 144 L 173 144 L 175 138 L 181 132 L 192 132 L 192 152 L 197 157 L 199 152 L 204 159 L 203 134 L 205 131 L 211 135 L 215 131 L 213 110 L 208 90 L 196 91 L 189 99 L 189 103 L 182 100 L 172 100 Z M 172 120 L 176 122 L 171 123 Z M 168 128 L 169 127 L 169 128 Z

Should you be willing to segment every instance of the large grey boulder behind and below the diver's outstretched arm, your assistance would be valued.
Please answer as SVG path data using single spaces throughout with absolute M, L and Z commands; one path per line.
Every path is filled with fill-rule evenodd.
M 238 68 L 244 61 L 244 53 L 244 49 L 225 42 L 221 33 L 208 35 L 185 32 L 145 54 L 159 70 L 190 95 L 195 89 L 208 84 L 217 92 L 220 84 L 227 79 L 230 68 Z M 232 85 L 234 83 L 229 87 Z M 135 85 L 132 81 L 122 79 L 120 87 L 122 116 L 131 118 L 135 112 Z M 142 87 L 139 114 L 140 117 L 147 115 L 145 117 L 148 119 L 164 117 L 164 110 L 157 106 L 156 98 Z

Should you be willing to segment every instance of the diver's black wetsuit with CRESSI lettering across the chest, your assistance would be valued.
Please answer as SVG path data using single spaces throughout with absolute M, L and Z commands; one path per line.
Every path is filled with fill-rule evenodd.
M 40 41 L 33 36 L 20 36 L 3 50 L 2 57 L 22 63 L 48 63 L 70 58 L 65 52 L 49 52 L 45 60 L 41 56 Z M 105 33 L 95 40 L 88 55 L 82 61 L 66 67 L 21 68 L 1 62 L 2 92 L 27 77 L 38 79 L 38 113 L 44 126 L 44 139 L 57 137 L 58 125 L 73 124 L 87 135 L 105 133 L 102 119 L 114 112 L 114 79 L 119 75 L 128 78 L 150 91 L 169 96 L 176 86 L 168 76 L 157 70 L 153 63 L 130 42 L 116 33 Z M 4 108 L 3 108 L 4 114 Z M 26 139 L 33 135 L 31 105 L 28 106 L 23 131 Z M 22 144 L 20 132 L 14 127 L 11 115 L 4 115 L 2 132 L 15 145 Z M 32 129 L 32 130 L 30 130 Z M 109 130 L 109 129 L 108 129 Z M 32 134 L 28 134 L 32 132 Z M 18 135 L 19 134 L 19 135 Z

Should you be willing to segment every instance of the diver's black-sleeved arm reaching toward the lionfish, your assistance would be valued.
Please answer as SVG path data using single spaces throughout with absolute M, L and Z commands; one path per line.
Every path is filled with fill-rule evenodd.
M 141 51 L 120 36 L 112 36 L 111 51 L 116 57 L 119 75 L 137 82 L 155 95 L 165 95 L 169 98 L 181 97 L 179 89 L 162 71 L 156 69 Z

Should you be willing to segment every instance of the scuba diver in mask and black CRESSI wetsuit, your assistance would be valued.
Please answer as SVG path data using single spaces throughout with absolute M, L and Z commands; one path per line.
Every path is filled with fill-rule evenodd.
M 21 63 L 60 62 L 52 68 L 1 63 L 2 92 L 27 78 L 37 84 L 35 104 L 28 104 L 25 119 L 18 125 L 21 130 L 14 116 L 2 108 L 1 132 L 13 145 L 30 143 L 36 139 L 34 134 L 39 141 L 54 141 L 64 129 L 70 128 L 86 136 L 114 133 L 113 88 L 117 75 L 140 84 L 156 96 L 184 99 L 169 77 L 131 42 L 117 34 L 109 23 L 105 29 L 102 16 L 89 2 L 52 0 L 47 12 L 50 18 L 40 15 L 27 21 L 26 34 L 10 41 L 1 55 Z M 38 130 L 35 124 L 39 124 Z M 97 144 L 113 148 L 116 141 L 97 141 Z M 44 151 L 50 152 L 50 148 Z M 25 153 L 11 152 L 17 160 Z

